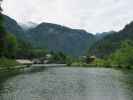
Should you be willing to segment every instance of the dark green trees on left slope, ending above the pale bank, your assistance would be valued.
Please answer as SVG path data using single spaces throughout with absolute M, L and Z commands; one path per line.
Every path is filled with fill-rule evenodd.
M 0 57 L 6 57 L 9 59 L 25 58 L 30 59 L 33 57 L 44 56 L 46 54 L 45 49 L 34 49 L 30 45 L 21 39 L 17 39 L 12 33 L 7 33 L 3 27 L 3 15 L 0 16 Z

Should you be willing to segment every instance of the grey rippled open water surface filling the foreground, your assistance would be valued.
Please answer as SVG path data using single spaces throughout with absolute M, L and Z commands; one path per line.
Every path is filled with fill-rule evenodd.
M 48 68 L 8 79 L 0 100 L 133 100 L 127 80 L 112 69 Z

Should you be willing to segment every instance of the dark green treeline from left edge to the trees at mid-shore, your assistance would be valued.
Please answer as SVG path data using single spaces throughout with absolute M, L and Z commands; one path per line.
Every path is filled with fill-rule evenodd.
M 30 43 L 16 38 L 12 33 L 7 33 L 3 27 L 3 15 L 1 15 L 1 42 L 0 58 L 7 59 L 38 59 L 45 60 L 51 55 L 49 63 L 70 63 L 70 57 L 62 52 L 49 52 L 45 48 L 33 48 Z M 3 61 L 3 60 L 2 60 Z M 5 60 L 4 60 L 5 61 Z

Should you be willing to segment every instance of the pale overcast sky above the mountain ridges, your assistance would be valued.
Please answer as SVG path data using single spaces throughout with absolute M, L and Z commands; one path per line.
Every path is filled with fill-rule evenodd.
M 2 7 L 20 23 L 49 22 L 91 33 L 118 31 L 133 21 L 133 0 L 4 0 Z

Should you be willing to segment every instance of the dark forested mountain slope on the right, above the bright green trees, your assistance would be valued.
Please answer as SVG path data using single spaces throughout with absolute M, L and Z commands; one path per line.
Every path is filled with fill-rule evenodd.
M 119 32 L 112 32 L 97 41 L 88 51 L 89 55 L 104 58 L 120 48 L 124 40 L 133 40 L 133 22 L 126 25 Z

